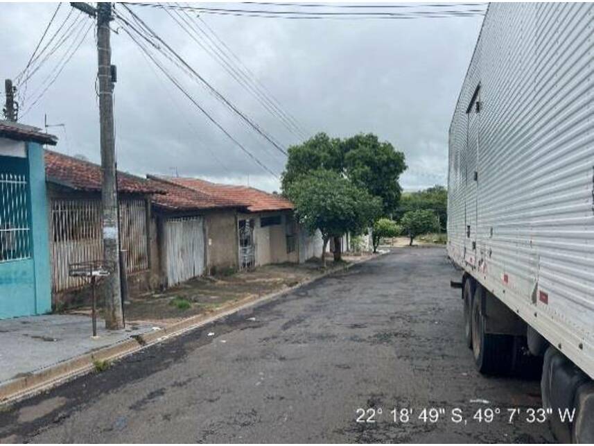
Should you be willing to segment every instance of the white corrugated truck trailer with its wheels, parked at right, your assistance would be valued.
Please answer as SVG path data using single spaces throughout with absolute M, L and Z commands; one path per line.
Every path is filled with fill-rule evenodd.
M 542 364 L 566 442 L 594 441 L 593 200 L 594 4 L 491 3 L 449 133 L 448 255 L 476 366 Z

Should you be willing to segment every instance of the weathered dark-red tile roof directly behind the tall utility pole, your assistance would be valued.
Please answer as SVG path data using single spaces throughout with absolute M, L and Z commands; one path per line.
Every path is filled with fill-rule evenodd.
M 79 191 L 101 191 L 101 166 L 54 151 L 45 151 L 45 172 L 49 182 Z M 163 191 L 144 178 L 118 171 L 118 191 L 128 194 L 161 194 Z

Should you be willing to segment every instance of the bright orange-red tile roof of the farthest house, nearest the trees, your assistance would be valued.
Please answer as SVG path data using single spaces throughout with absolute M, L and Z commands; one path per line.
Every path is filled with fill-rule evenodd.
M 293 204 L 283 196 L 268 194 L 268 192 L 253 187 L 221 185 L 198 178 L 168 177 L 167 180 L 204 194 L 241 203 L 250 212 L 293 209 Z

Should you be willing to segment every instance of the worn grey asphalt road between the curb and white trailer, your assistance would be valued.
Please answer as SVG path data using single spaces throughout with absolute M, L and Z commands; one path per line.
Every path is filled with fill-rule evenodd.
M 547 424 L 527 422 L 541 404 L 537 381 L 475 372 L 452 277 L 442 248 L 394 250 L 1 411 L 0 438 L 552 441 Z M 359 408 L 364 418 L 375 409 L 376 422 L 357 422 Z M 394 408 L 412 410 L 408 422 L 394 422 Z M 437 422 L 419 419 L 430 408 Z M 525 415 L 509 424 L 512 408 Z M 480 422 L 479 409 L 500 412 Z

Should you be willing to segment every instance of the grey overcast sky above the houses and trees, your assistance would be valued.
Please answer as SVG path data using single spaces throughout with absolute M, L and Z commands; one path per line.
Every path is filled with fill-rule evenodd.
M 204 5 L 204 3 L 201 3 Z M 0 77 L 16 78 L 26 66 L 57 3 L 0 4 Z M 238 3 L 218 7 L 245 8 Z M 121 6 L 116 6 L 116 9 Z M 48 35 L 67 18 L 62 4 Z M 299 142 L 239 85 L 218 62 L 191 40 L 164 10 L 133 7 L 198 73 L 283 147 Z M 60 138 L 56 150 L 98 162 L 96 46 L 91 19 L 72 13 L 73 34 L 21 86 L 21 121 L 44 126 Z M 405 189 L 446 184 L 447 138 L 466 67 L 482 16 L 413 20 L 287 20 L 201 15 L 246 67 L 290 113 L 307 135 L 324 131 L 347 137 L 374 132 L 403 151 L 409 170 Z M 80 26 L 80 28 L 78 28 Z M 203 29 L 204 25 L 202 25 Z M 116 149 L 119 168 L 132 173 L 200 176 L 277 190 L 264 171 L 176 89 L 114 23 L 112 62 L 115 87 Z M 64 27 L 66 29 L 66 27 Z M 79 31 L 80 30 L 80 31 Z M 214 38 L 214 37 L 213 37 Z M 78 51 L 55 82 L 56 64 L 73 42 Z M 208 42 L 203 40 L 203 42 Z M 50 46 L 51 47 L 51 46 Z M 184 88 L 268 169 L 281 173 L 284 155 L 246 128 L 207 89 L 166 62 Z M 44 83 L 45 80 L 45 83 Z M 35 98 L 39 101 L 33 105 Z M 4 101 L 3 95 L 0 95 Z M 31 106 L 33 105 L 33 106 Z M 31 108 L 29 109 L 29 107 Z M 24 114 L 25 113 L 25 114 Z

